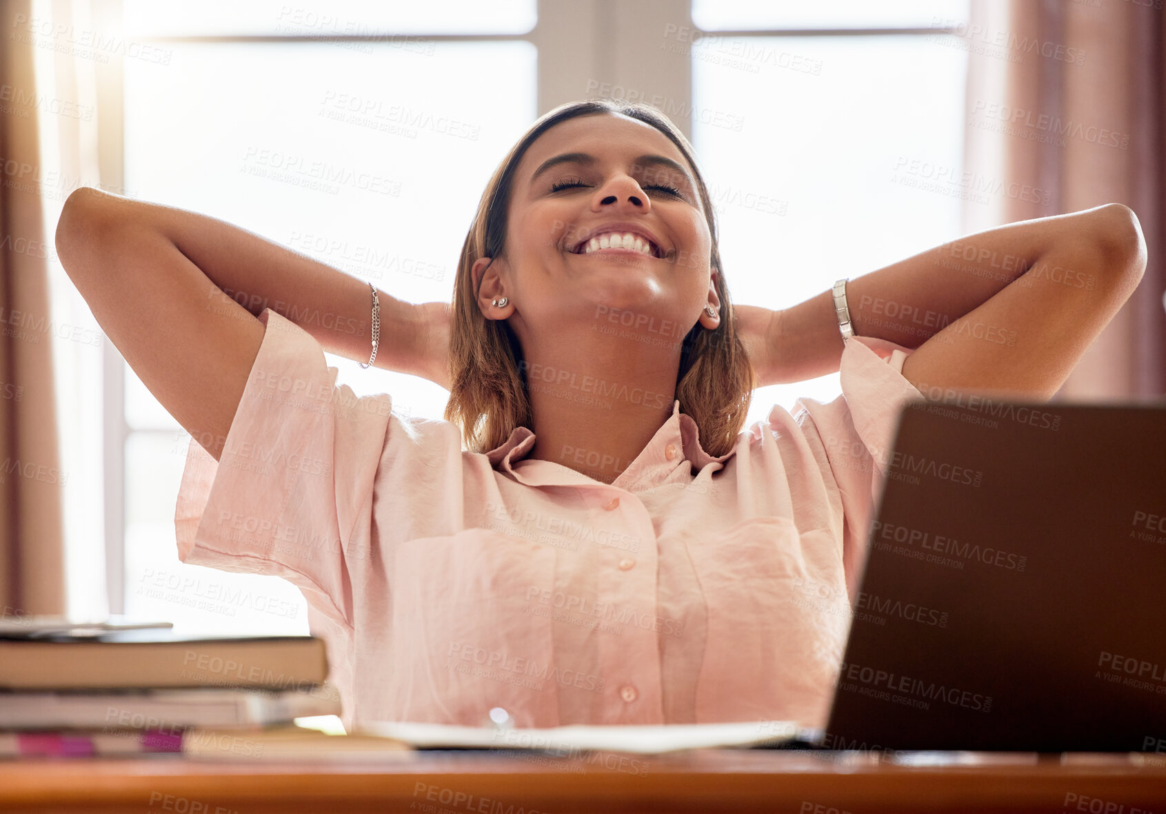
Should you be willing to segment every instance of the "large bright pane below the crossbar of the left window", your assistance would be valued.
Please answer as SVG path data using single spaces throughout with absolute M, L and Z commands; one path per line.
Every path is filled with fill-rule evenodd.
M 451 43 L 433 55 L 386 44 L 361 52 L 182 43 L 168 65 L 127 59 L 125 87 L 127 189 L 262 234 L 409 302 L 452 299 L 482 190 L 536 118 L 535 49 L 526 42 Z M 337 384 L 358 395 L 387 392 L 399 415 L 442 417 L 449 393 L 437 385 L 325 358 L 339 369 Z M 127 390 L 136 393 L 127 395 L 135 426 L 160 420 L 161 407 L 140 404 L 153 399 L 145 387 Z M 169 458 L 181 476 L 189 438 L 178 429 L 160 437 L 140 454 L 127 447 L 127 612 L 140 576 L 132 567 L 180 568 L 170 557 L 178 479 L 146 479 Z M 132 566 L 138 539 L 145 549 Z M 163 555 L 169 564 L 159 564 Z M 276 622 L 286 623 L 254 616 L 273 630 Z M 236 620 L 216 612 L 199 624 L 227 630 Z

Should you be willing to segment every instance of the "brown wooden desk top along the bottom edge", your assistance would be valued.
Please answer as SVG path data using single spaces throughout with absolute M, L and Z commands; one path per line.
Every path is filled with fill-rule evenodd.
M 1166 756 L 971 756 L 902 766 L 854 753 L 697 750 L 576 758 L 415 752 L 360 763 L 239 758 L 0 762 L 0 812 L 1166 814 Z M 472 795 L 472 797 L 471 797 Z

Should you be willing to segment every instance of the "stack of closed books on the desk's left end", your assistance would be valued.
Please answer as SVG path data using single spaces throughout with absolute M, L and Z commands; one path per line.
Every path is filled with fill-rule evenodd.
M 296 724 L 340 714 L 326 676 L 324 641 L 310 636 L 177 636 L 169 623 L 121 617 L 5 618 L 0 758 L 302 756 L 315 751 L 309 742 L 343 732 L 335 717 L 323 731 Z

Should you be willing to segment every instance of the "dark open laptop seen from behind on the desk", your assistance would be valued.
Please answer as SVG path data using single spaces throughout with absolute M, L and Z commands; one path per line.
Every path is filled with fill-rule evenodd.
M 869 540 L 801 743 L 1166 752 L 1166 402 L 911 401 Z

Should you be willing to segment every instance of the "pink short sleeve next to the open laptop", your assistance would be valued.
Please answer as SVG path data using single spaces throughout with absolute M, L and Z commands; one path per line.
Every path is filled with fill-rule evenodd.
M 843 568 L 847 589 L 857 597 L 868 535 L 879 499 L 899 414 L 922 394 L 902 376 L 914 352 L 893 342 L 856 336 L 847 342 L 838 369 L 842 395 L 829 404 L 799 399 L 826 449 L 843 514 Z

